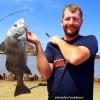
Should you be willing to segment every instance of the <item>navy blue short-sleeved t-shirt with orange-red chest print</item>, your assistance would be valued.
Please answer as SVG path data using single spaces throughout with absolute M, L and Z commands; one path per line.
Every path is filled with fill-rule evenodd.
M 45 54 L 49 63 L 54 64 L 53 74 L 47 82 L 49 96 L 69 98 L 67 100 L 70 100 L 71 97 L 92 100 L 94 59 L 98 51 L 96 37 L 94 35 L 78 36 L 76 39 L 66 42 L 87 47 L 91 57 L 80 65 L 72 65 L 64 60 L 59 47 L 49 42 Z

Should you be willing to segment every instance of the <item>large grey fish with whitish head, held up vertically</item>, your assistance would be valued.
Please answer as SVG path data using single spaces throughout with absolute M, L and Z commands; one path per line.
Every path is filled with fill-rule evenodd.
M 32 75 L 27 66 L 26 32 L 27 24 L 20 18 L 8 29 L 4 41 L 0 44 L 0 49 L 6 54 L 6 68 L 17 80 L 14 96 L 31 93 L 23 81 L 24 74 Z

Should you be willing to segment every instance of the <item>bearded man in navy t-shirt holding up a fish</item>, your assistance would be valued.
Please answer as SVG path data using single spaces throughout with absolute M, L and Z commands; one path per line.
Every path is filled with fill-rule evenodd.
M 53 36 L 45 54 L 37 36 L 27 33 L 28 41 L 36 46 L 38 70 L 42 79 L 47 80 L 48 100 L 93 100 L 98 44 L 93 35 L 79 35 L 82 23 L 81 8 L 67 5 L 61 20 L 64 38 Z

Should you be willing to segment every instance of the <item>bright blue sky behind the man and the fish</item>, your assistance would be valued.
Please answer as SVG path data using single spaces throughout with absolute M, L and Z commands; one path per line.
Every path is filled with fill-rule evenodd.
M 62 9 L 65 5 L 75 3 L 81 6 L 83 10 L 84 23 L 80 34 L 94 34 L 100 44 L 100 2 L 96 0 L 2 0 L 0 1 L 0 19 L 22 9 L 29 9 L 16 13 L 0 21 L 0 43 L 4 40 L 8 29 L 20 18 L 24 18 L 29 25 L 28 29 L 39 37 L 43 49 L 50 36 L 63 36 L 63 29 L 60 24 Z M 98 54 L 100 54 L 100 46 Z

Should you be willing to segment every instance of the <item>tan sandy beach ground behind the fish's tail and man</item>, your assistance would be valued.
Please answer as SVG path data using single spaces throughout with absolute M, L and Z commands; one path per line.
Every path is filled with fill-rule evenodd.
M 35 87 L 40 81 L 25 81 L 25 84 L 31 89 L 30 94 L 23 94 L 14 97 L 16 81 L 0 80 L 0 100 L 47 100 L 47 87 Z M 100 83 L 94 84 L 94 100 L 100 100 Z

